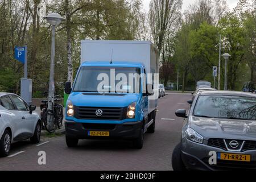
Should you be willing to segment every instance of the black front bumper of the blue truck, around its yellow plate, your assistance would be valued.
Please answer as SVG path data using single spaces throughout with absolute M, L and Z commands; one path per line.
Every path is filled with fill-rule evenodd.
M 65 121 L 66 135 L 76 139 L 135 139 L 139 137 L 142 122 L 125 122 L 122 124 L 80 123 Z M 109 131 L 109 137 L 92 137 L 88 131 Z

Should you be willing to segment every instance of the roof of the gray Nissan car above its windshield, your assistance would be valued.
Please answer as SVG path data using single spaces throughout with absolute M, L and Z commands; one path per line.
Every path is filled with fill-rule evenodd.
M 202 90 L 200 91 L 201 96 L 242 96 L 242 97 L 255 97 L 255 93 L 249 92 L 238 92 L 238 91 L 224 91 L 224 90 Z

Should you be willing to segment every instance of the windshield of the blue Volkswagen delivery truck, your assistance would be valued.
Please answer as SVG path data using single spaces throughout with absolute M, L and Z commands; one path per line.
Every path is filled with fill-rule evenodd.
M 129 67 L 81 67 L 73 92 L 140 93 L 140 70 Z

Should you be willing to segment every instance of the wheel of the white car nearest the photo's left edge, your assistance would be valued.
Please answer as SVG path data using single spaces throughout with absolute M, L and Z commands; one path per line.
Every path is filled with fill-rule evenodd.
M 10 131 L 5 130 L 0 140 L 0 156 L 5 157 L 9 155 L 11 149 L 11 134 Z

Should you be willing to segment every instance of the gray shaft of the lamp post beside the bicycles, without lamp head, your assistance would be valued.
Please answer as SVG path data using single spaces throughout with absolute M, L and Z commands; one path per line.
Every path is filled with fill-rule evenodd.
M 52 101 L 54 96 L 54 67 L 55 67 L 55 26 L 52 26 L 52 48 L 51 48 L 51 68 L 50 68 L 50 77 L 49 77 L 49 93 L 48 93 L 48 109 L 52 110 Z M 51 118 L 51 119 L 50 119 Z M 51 115 L 47 116 L 47 120 L 50 123 L 50 126 L 53 124 L 53 117 Z

